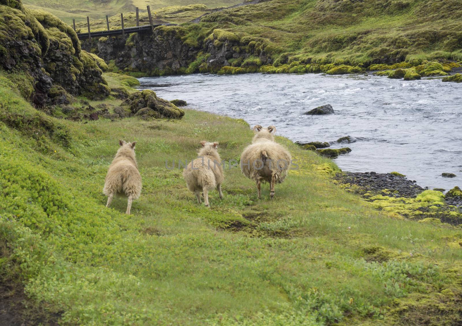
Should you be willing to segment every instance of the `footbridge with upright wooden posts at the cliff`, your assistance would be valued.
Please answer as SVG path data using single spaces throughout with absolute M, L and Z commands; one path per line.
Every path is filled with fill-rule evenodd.
M 102 37 L 102 36 L 117 36 L 117 35 L 122 35 L 125 37 L 125 34 L 131 34 L 131 33 L 139 33 L 139 32 L 144 32 L 148 30 L 154 30 L 157 26 L 175 26 L 176 24 L 153 24 L 152 23 L 152 16 L 151 16 L 151 9 L 149 6 L 147 6 L 147 13 L 149 16 L 149 25 L 143 25 L 140 26 L 140 18 L 138 15 L 138 7 L 136 8 L 136 26 L 133 27 L 124 27 L 123 26 L 123 14 L 120 14 L 120 21 L 122 24 L 122 28 L 120 30 L 110 30 L 109 29 L 109 17 L 106 16 L 106 24 L 108 27 L 108 30 L 100 30 L 97 32 L 90 32 L 90 18 L 87 16 L 87 29 L 88 32 L 86 33 L 77 33 L 77 36 L 79 37 L 79 40 L 85 40 L 88 39 L 91 42 L 91 37 Z M 75 31 L 75 19 L 73 19 L 73 28 Z

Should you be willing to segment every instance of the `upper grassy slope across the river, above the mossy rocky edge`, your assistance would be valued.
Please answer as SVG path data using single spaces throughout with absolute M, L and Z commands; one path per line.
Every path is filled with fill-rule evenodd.
M 409 59 L 446 51 L 462 60 L 461 18 L 456 0 L 273 0 L 212 13 L 202 21 L 260 36 L 281 52 L 302 54 L 298 59 L 356 65 L 374 51 L 409 54 Z

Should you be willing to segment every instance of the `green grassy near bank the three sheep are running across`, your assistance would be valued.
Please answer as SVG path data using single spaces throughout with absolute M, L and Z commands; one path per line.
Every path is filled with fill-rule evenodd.
M 22 279 L 64 324 L 460 321 L 460 229 L 372 210 L 328 180 L 333 163 L 287 139 L 277 141 L 300 169 L 274 200 L 267 185 L 257 200 L 233 168 L 207 209 L 165 160 L 194 157 L 202 139 L 237 159 L 252 137 L 243 121 L 194 110 L 182 121 L 56 120 L 1 76 L 0 121 L 0 277 Z M 106 209 L 101 193 L 118 139 L 138 142 L 144 187 L 130 216 L 126 200 Z

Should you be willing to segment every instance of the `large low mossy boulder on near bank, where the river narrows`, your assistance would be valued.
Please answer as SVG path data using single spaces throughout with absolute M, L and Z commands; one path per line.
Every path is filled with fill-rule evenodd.
M 184 115 L 182 109 L 169 101 L 157 97 L 156 93 L 151 90 L 137 91 L 130 94 L 122 105 L 129 106 L 134 114 L 137 114 L 141 109 L 149 108 L 157 112 L 160 118 L 181 119 Z M 147 114 L 145 111 L 143 111 L 144 114 Z

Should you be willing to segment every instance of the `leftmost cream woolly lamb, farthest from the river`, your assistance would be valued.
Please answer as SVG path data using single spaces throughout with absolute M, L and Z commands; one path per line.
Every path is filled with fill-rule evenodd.
M 127 196 L 127 211 L 130 214 L 132 202 L 140 198 L 141 193 L 141 175 L 138 171 L 138 165 L 135 158 L 136 142 L 126 143 L 119 140 L 120 148 L 116 157 L 109 166 L 106 180 L 104 181 L 103 193 L 108 196 L 106 207 L 111 205 L 114 195 Z

